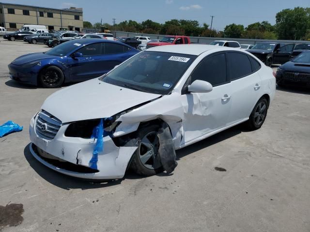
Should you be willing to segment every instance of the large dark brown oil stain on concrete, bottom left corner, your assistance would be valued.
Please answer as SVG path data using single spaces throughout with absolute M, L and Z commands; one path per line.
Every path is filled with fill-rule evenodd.
M 24 220 L 21 216 L 24 212 L 23 204 L 0 205 L 0 231 L 5 226 L 18 226 Z

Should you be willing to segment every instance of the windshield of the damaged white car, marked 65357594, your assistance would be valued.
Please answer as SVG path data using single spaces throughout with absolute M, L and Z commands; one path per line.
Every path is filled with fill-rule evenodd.
M 142 92 L 169 94 L 197 56 L 145 51 L 100 78 Z

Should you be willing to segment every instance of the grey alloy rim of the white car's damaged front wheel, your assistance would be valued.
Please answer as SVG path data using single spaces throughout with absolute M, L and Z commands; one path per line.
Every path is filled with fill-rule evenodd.
M 148 169 L 157 169 L 161 167 L 160 157 L 158 155 L 159 138 L 157 132 L 152 131 L 146 134 L 139 145 L 139 158 L 141 163 Z

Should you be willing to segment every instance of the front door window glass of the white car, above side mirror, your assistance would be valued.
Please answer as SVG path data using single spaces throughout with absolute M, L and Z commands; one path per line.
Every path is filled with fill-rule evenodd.
M 212 86 L 218 86 L 226 83 L 225 54 L 221 53 L 204 58 L 191 74 L 191 83 L 196 80 L 207 81 Z

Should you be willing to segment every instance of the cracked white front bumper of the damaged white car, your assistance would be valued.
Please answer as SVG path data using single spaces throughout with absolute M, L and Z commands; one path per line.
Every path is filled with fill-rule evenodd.
M 104 137 L 104 150 L 98 154 L 97 170 L 93 170 L 93 173 L 83 173 L 78 171 L 72 171 L 72 168 L 58 167 L 52 162 L 48 162 L 47 159 L 43 159 L 33 149 L 33 145 L 39 147 L 43 151 L 47 152 L 55 159 L 61 159 L 67 161 L 78 169 L 80 166 L 90 168 L 90 160 L 93 157 L 93 148 L 96 144 L 96 139 L 82 139 L 64 136 L 69 124 L 62 125 L 57 132 L 53 140 L 46 140 L 39 137 L 36 133 L 36 118 L 31 119 L 30 123 L 30 139 L 31 146 L 30 151 L 35 159 L 42 164 L 56 172 L 83 178 L 83 179 L 120 179 L 124 177 L 128 163 L 136 151 L 137 147 L 118 147 L 114 144 L 113 140 L 106 136 Z

